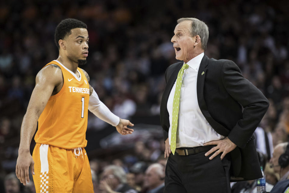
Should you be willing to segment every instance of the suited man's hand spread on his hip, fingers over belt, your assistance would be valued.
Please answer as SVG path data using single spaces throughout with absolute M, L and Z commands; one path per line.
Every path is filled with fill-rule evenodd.
M 211 153 L 215 152 L 211 157 L 209 157 L 210 160 L 212 160 L 214 157 L 222 153 L 221 160 L 225 157 L 227 153 L 234 150 L 237 145 L 234 144 L 228 137 L 225 139 L 221 139 L 218 141 L 210 141 L 204 144 L 206 145 L 217 145 L 216 147 L 213 147 L 210 149 L 207 153 L 205 153 L 205 156 L 210 155 Z

